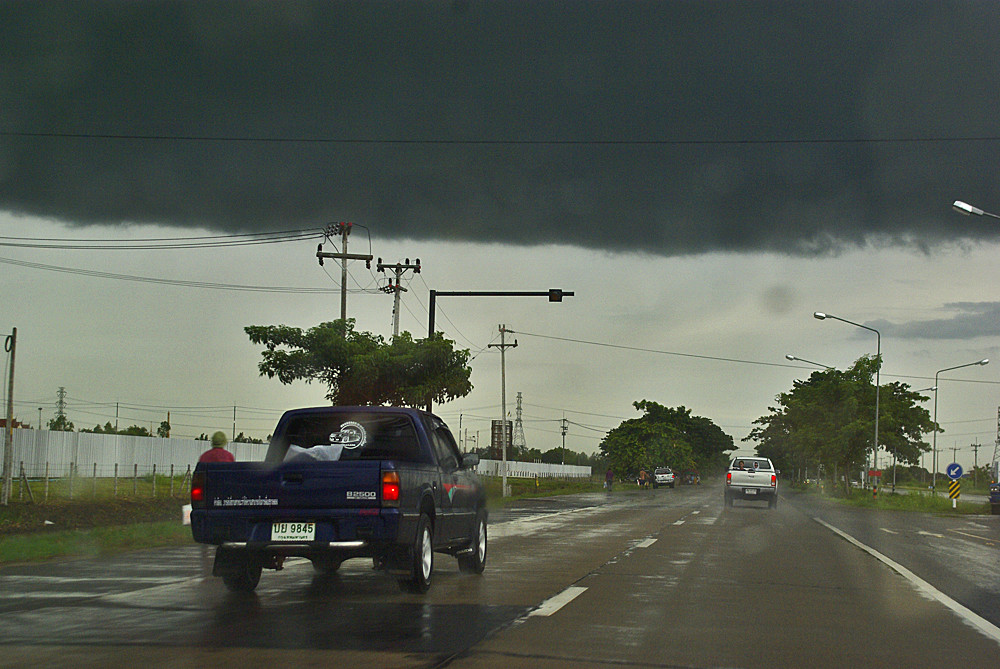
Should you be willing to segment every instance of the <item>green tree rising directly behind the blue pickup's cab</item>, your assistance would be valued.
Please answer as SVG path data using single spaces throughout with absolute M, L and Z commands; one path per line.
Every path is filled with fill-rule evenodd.
M 422 406 L 444 403 L 472 391 L 469 351 L 438 332 L 413 339 L 409 332 L 386 341 L 357 332 L 354 319 L 338 319 L 302 330 L 287 325 L 244 328 L 263 344 L 261 376 L 326 385 L 326 398 L 339 405 Z

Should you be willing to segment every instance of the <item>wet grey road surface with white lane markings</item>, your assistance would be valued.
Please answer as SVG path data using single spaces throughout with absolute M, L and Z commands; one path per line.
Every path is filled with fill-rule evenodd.
M 0 666 L 995 664 L 997 639 L 815 518 L 1000 623 L 1000 517 L 629 488 L 494 513 L 486 573 L 435 556 L 424 596 L 365 560 L 265 571 L 237 596 L 202 578 L 198 546 L 3 567 Z

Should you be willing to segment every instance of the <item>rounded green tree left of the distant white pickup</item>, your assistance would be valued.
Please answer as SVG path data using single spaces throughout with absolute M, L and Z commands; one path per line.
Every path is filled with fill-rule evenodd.
M 601 454 L 619 476 L 660 465 L 678 472 L 716 469 L 733 450 L 732 437 L 708 418 L 692 416 L 690 409 L 648 400 L 633 406 L 645 414 L 623 422 L 601 442 Z

